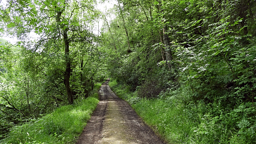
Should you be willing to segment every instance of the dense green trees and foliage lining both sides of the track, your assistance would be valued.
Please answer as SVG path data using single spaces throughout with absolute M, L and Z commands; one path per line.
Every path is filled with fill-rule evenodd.
M 181 99 L 186 118 L 195 122 L 190 131 L 214 131 L 201 142 L 228 143 L 232 136 L 255 142 L 255 0 L 117 0 L 101 14 L 100 35 L 92 32 L 100 17 L 95 3 L 1 6 L 1 32 L 21 40 L 0 49 L 3 117 L 18 123 L 71 104 L 108 70 L 135 93 L 132 104 Z M 39 37 L 25 41 L 30 32 Z

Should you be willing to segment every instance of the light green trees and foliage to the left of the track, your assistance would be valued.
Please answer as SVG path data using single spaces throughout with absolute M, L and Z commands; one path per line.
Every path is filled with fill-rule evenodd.
M 102 81 L 108 51 L 98 47 L 99 39 L 91 31 L 99 16 L 94 4 L 18 0 L 0 6 L 1 32 L 4 26 L 20 40 L 17 45 L 0 45 L 0 139 L 12 126 L 67 105 L 68 94 L 74 99 L 88 97 L 94 84 Z M 33 40 L 30 32 L 36 33 Z

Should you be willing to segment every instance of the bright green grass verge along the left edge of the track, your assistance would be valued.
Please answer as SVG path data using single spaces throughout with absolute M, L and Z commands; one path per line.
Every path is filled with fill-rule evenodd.
M 61 106 L 52 114 L 12 129 L 1 144 L 69 144 L 82 133 L 86 122 L 99 102 L 97 84 L 94 93 L 86 99 L 76 99 L 74 104 Z

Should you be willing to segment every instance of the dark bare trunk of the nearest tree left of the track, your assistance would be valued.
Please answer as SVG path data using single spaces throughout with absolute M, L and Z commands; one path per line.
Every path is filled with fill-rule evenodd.
M 68 34 L 67 30 L 63 30 L 63 39 L 65 44 L 65 61 L 66 61 L 66 71 L 65 71 L 65 77 L 64 77 L 64 84 L 66 86 L 67 94 L 68 94 L 68 101 L 69 104 L 73 103 L 73 95 L 71 92 L 71 88 L 69 85 L 69 78 L 70 78 L 70 72 L 71 72 L 71 63 L 69 58 L 69 41 L 68 41 Z

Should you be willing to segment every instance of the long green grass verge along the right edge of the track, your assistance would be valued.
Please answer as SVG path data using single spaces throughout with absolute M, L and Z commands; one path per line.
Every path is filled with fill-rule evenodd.
M 235 127 L 226 125 L 225 120 L 205 113 L 207 105 L 186 105 L 182 93 L 165 98 L 139 98 L 128 87 L 110 82 L 111 89 L 126 100 L 144 122 L 170 144 L 249 144 L 241 139 Z

